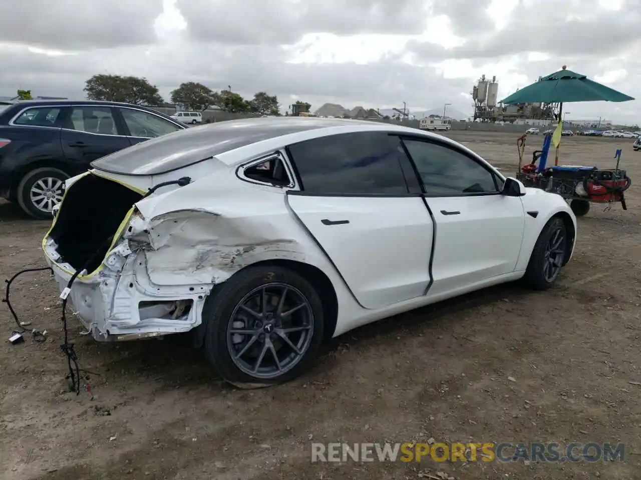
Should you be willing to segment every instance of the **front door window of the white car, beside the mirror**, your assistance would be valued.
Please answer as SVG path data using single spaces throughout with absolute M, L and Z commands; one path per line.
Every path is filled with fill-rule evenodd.
M 452 148 L 419 140 L 403 140 L 428 195 L 466 195 L 499 191 L 495 175 Z

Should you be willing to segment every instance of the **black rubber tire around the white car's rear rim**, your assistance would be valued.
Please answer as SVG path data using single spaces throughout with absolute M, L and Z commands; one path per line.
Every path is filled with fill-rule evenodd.
M 267 326 L 266 321 L 263 321 L 264 326 L 262 328 L 257 325 L 249 326 L 247 323 L 242 324 L 242 326 L 235 325 L 235 322 L 232 323 L 232 316 L 236 319 L 239 318 L 236 312 L 240 311 L 240 302 L 244 301 L 248 295 L 252 295 L 253 292 L 260 289 L 263 285 L 272 285 L 272 287 L 268 287 L 268 289 L 276 289 L 273 285 L 286 285 L 292 289 L 291 291 L 294 294 L 294 297 L 301 294 L 304 301 L 307 302 L 308 307 L 303 307 L 301 310 L 309 312 L 311 317 L 311 322 L 309 323 L 311 323 L 311 326 L 306 327 L 309 329 L 306 332 L 308 332 L 310 338 L 306 340 L 308 343 L 306 343 L 306 347 L 304 351 L 302 351 L 303 355 L 296 355 L 294 349 L 290 349 L 290 347 L 285 344 L 282 337 L 279 336 L 280 333 L 278 333 L 278 335 L 276 334 L 278 330 L 276 327 L 274 327 L 275 330 L 265 330 L 265 327 Z M 264 312 L 265 310 L 262 311 Z M 260 321 L 244 312 L 243 315 L 251 320 L 248 320 L 248 323 L 255 322 L 258 324 Z M 276 317 L 274 316 L 274 318 L 269 319 L 269 323 L 273 321 L 274 323 L 272 325 L 277 325 L 278 319 L 275 318 Z M 323 308 L 318 292 L 315 291 L 310 282 L 305 280 L 295 271 L 278 266 L 258 266 L 244 269 L 233 275 L 229 280 L 227 280 L 227 282 L 224 282 L 224 284 L 216 287 L 212 292 L 212 295 L 210 295 L 208 300 L 205 302 L 203 308 L 203 323 L 206 326 L 204 354 L 208 362 L 210 362 L 223 380 L 226 380 L 239 388 L 269 387 L 271 385 L 285 383 L 301 375 L 306 371 L 310 366 L 310 362 L 312 362 L 317 355 L 322 344 L 324 331 Z M 242 330 L 252 329 L 253 333 L 247 335 L 233 334 L 229 332 L 229 328 L 241 328 Z M 258 330 L 254 330 L 255 328 L 258 328 Z M 240 354 L 239 356 L 241 356 L 242 353 L 235 350 L 233 336 L 230 335 L 238 335 L 242 338 L 242 342 L 246 342 L 244 343 L 245 347 L 243 348 L 240 348 L 242 347 L 242 342 L 239 341 L 237 343 L 241 352 L 245 351 L 244 348 L 246 348 L 247 344 L 252 345 L 251 349 L 267 349 L 267 346 L 265 346 L 267 345 L 267 339 L 263 338 L 263 340 L 260 340 L 253 338 L 254 334 L 257 335 L 257 332 L 259 331 L 273 332 L 262 333 L 262 335 L 263 337 L 267 335 L 270 343 L 274 340 L 274 345 L 277 343 L 279 344 L 278 349 L 268 351 L 270 355 L 278 356 L 278 353 L 276 353 L 277 351 L 287 353 L 287 349 L 290 349 L 290 355 L 294 355 L 294 357 L 297 358 L 296 363 L 292 360 L 291 364 L 285 365 L 287 369 L 284 369 L 282 373 L 276 372 L 269 378 L 267 378 L 267 373 L 262 375 L 250 374 L 247 372 L 247 369 L 239 366 L 238 362 L 242 363 L 244 360 L 235 360 L 235 358 L 232 357 L 232 351 Z M 303 338 L 302 335 L 303 332 L 301 332 L 299 340 L 296 340 L 295 335 L 293 337 L 294 340 L 291 341 L 299 342 L 296 345 L 298 348 L 302 348 L 300 343 L 300 339 Z M 249 339 L 249 337 L 252 337 L 252 339 Z M 251 349 L 248 348 L 247 353 L 251 353 Z M 260 358 L 260 355 L 258 355 L 258 358 Z M 276 364 L 277 362 L 273 361 L 274 356 L 271 358 L 272 363 Z M 274 368 L 275 367 L 272 366 L 272 369 Z M 277 370 L 279 369 L 280 364 L 278 363 Z

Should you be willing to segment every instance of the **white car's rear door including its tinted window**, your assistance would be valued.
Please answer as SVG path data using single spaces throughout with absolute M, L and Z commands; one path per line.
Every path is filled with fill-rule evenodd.
M 301 183 L 288 204 L 360 305 L 423 296 L 433 223 L 400 139 L 354 132 L 287 150 Z

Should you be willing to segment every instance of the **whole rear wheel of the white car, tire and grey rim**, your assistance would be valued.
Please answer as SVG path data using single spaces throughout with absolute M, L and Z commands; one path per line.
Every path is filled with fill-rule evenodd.
M 319 294 L 295 271 L 256 267 L 220 285 L 203 309 L 205 356 L 223 380 L 269 387 L 302 374 L 323 335 Z

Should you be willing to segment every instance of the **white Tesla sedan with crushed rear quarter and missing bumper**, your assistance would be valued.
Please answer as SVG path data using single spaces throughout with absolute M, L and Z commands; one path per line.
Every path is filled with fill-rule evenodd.
M 545 289 L 575 234 L 561 196 L 437 134 L 254 118 L 95 161 L 42 246 L 96 340 L 194 330 L 222 378 L 264 386 L 362 324 L 522 277 Z

